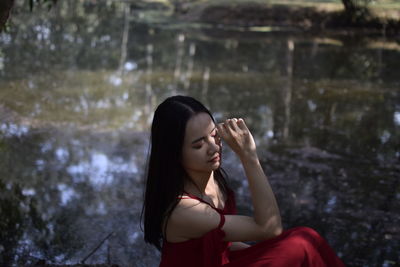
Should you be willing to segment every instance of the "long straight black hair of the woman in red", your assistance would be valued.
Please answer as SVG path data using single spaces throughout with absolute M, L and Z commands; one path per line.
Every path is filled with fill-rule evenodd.
M 144 214 L 144 240 L 162 248 L 163 232 L 171 212 L 183 194 L 184 181 L 190 179 L 181 165 L 183 139 L 186 124 L 198 113 L 211 112 L 199 101 L 188 96 L 172 96 L 164 100 L 154 112 L 151 126 L 151 150 L 146 170 Z M 229 187 L 222 168 L 214 171 L 214 177 L 225 196 Z M 163 231 L 164 230 L 164 231 Z

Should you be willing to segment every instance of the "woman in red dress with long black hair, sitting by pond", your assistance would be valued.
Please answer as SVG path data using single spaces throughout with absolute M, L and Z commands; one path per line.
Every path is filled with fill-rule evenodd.
M 221 138 L 244 167 L 253 217 L 236 215 L 221 169 Z M 283 231 L 244 120 L 216 124 L 191 97 L 167 98 L 155 111 L 143 211 L 144 238 L 162 250 L 161 267 L 344 266 L 314 230 Z

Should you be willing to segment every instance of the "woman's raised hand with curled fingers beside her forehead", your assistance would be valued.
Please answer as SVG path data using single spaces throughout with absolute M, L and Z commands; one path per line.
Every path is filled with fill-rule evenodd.
M 227 119 L 217 125 L 219 136 L 241 159 L 257 157 L 254 138 L 243 119 Z

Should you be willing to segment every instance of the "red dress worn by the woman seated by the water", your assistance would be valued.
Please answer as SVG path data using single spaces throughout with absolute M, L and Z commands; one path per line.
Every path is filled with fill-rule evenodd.
M 189 195 L 208 205 L 206 201 Z M 211 205 L 210 205 L 211 206 Z M 236 214 L 233 192 L 224 209 L 216 210 L 221 220 L 217 228 L 195 239 L 179 243 L 164 241 L 160 267 L 341 267 L 345 266 L 328 243 L 313 229 L 296 227 L 251 247 L 230 251 L 223 241 L 222 226 L 227 214 Z

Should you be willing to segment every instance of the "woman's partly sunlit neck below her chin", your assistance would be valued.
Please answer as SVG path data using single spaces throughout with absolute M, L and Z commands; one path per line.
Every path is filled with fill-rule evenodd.
M 185 183 L 185 191 L 191 194 L 207 195 L 215 191 L 214 172 L 210 173 L 188 173 L 191 182 Z

